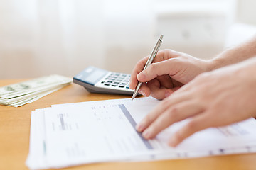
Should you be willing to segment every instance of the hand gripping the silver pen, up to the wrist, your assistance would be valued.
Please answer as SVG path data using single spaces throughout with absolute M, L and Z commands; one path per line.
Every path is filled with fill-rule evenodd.
M 134 67 L 129 87 L 135 89 L 138 81 L 144 82 L 139 93 L 157 99 L 166 98 L 198 74 L 211 69 L 208 61 L 173 50 L 162 50 L 154 62 L 142 71 L 148 58 L 144 57 Z

